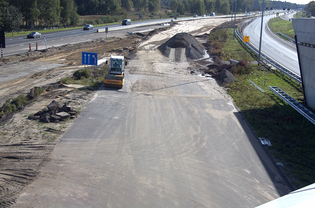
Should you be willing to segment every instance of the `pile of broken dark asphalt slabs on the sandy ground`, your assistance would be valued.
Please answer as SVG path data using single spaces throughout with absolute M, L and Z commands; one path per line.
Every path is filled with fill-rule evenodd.
M 63 121 L 68 117 L 74 118 L 75 114 L 77 114 L 77 111 L 72 106 L 67 106 L 66 104 L 59 105 L 57 101 L 52 101 L 47 107 L 27 118 L 30 120 L 39 119 L 42 122 L 49 123 Z

